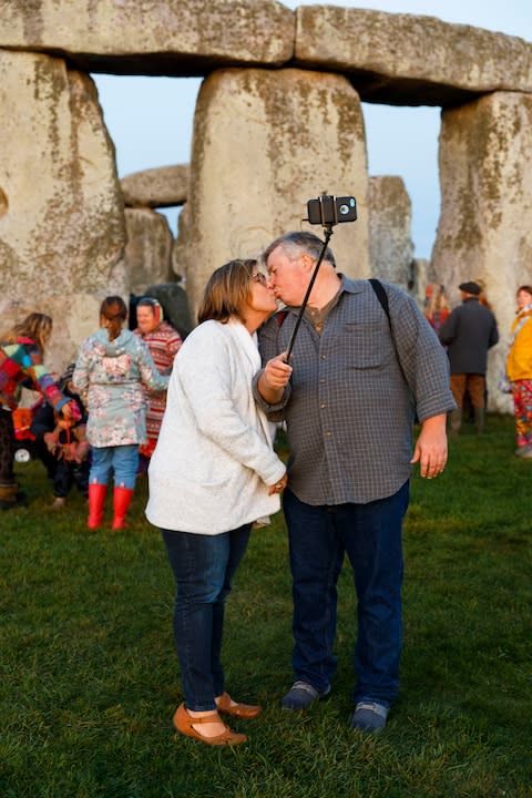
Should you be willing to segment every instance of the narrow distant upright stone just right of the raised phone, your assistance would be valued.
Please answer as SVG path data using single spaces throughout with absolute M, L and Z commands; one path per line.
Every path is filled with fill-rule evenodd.
M 374 277 L 410 290 L 412 211 L 401 177 L 369 178 L 369 263 Z

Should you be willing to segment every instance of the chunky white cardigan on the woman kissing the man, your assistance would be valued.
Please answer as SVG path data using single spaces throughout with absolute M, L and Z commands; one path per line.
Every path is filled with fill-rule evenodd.
M 151 523 L 221 534 L 279 510 L 268 485 L 286 467 L 253 398 L 259 368 L 256 336 L 239 321 L 205 321 L 186 338 L 149 469 Z

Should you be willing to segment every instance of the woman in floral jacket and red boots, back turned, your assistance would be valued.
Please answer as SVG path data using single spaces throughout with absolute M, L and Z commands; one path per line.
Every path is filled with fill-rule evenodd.
M 139 469 L 139 444 L 146 440 L 144 382 L 164 390 L 168 377 L 158 374 L 150 349 L 131 330 L 123 329 L 127 308 L 119 296 L 100 307 L 100 330 L 81 347 L 73 375 L 75 390 L 89 412 L 86 438 L 92 447 L 89 473 L 91 530 L 103 520 L 111 471 L 114 471 L 112 529 L 123 529 Z

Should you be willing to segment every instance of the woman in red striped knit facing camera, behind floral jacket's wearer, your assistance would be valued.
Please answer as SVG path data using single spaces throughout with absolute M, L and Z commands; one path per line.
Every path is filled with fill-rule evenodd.
M 163 308 L 152 297 L 142 297 L 136 305 L 137 327 L 134 330 L 147 344 L 153 362 L 160 374 L 170 374 L 174 357 L 183 344 L 180 334 L 163 318 Z M 146 443 L 139 448 L 140 471 L 145 473 L 155 449 L 158 430 L 166 407 L 166 391 L 146 392 Z

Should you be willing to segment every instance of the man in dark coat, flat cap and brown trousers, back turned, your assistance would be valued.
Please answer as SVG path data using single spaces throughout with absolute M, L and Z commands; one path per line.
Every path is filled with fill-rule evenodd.
M 454 434 L 462 424 L 466 391 L 471 397 L 477 430 L 482 432 L 484 429 L 488 349 L 499 340 L 495 317 L 479 301 L 482 288 L 477 283 L 461 283 L 458 287 L 462 304 L 454 308 L 440 329 L 440 340 L 448 347 L 451 391 L 458 405 L 450 416 Z

